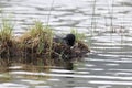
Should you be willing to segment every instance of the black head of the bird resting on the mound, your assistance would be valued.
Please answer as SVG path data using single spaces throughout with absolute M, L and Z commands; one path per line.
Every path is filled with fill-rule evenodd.
M 74 46 L 76 37 L 74 34 L 67 34 L 66 37 L 64 37 L 64 40 L 67 45 Z

